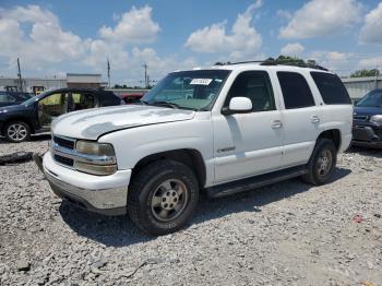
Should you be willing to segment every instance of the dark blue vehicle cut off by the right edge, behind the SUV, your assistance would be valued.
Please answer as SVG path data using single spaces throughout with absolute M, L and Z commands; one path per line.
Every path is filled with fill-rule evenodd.
M 353 145 L 382 147 L 382 90 L 374 90 L 360 99 L 353 119 Z

